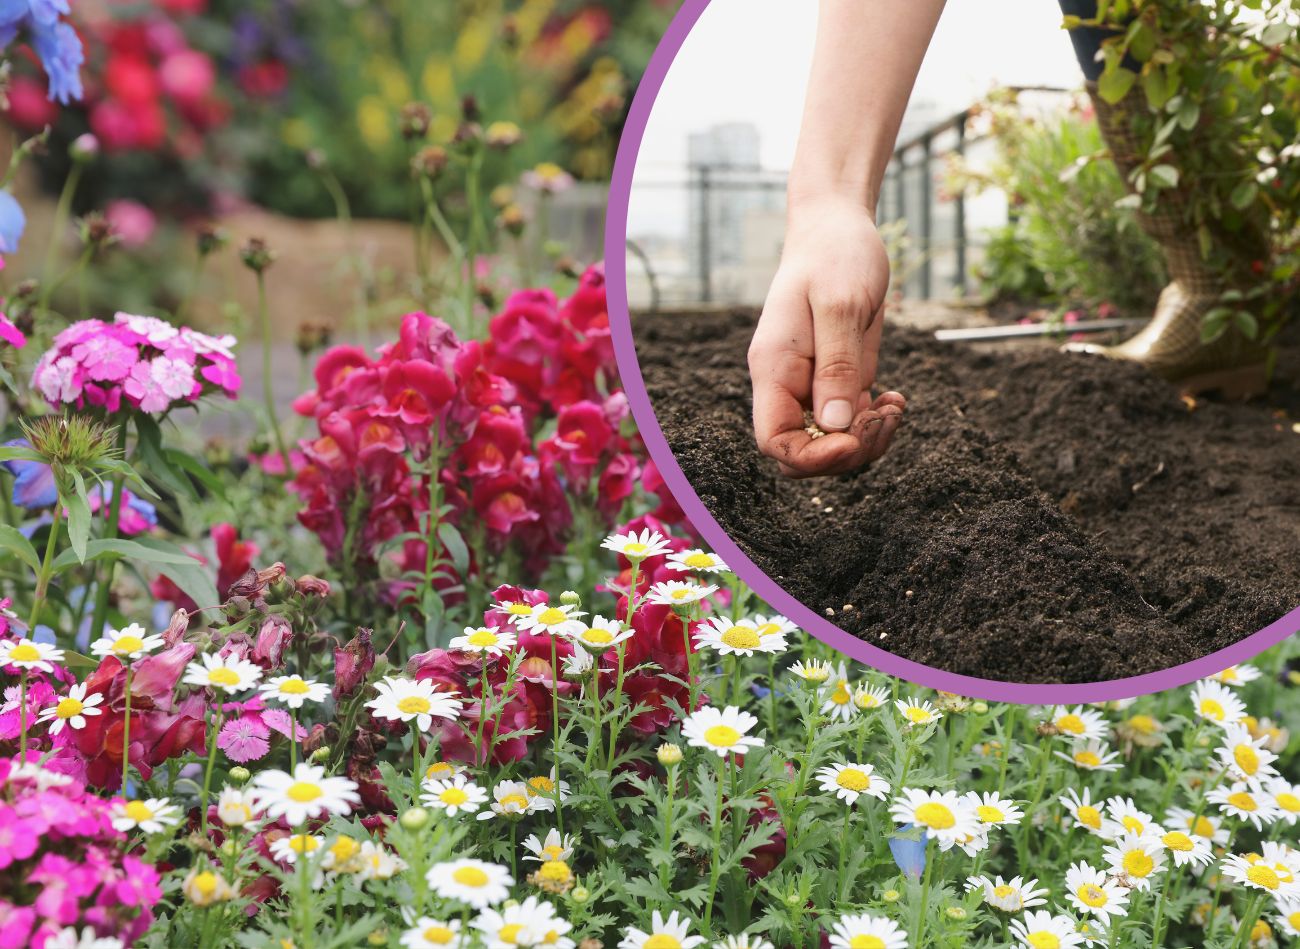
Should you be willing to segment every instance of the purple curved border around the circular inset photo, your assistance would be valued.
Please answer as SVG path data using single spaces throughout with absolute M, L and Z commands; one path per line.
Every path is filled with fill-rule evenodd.
M 636 170 L 637 153 L 645 136 L 650 110 L 654 107 L 664 77 L 681 49 L 690 29 L 708 5 L 708 0 L 684 0 L 681 9 L 664 32 L 659 47 L 650 57 L 637 94 L 632 100 L 623 139 L 619 142 L 618 157 L 614 162 L 614 177 L 610 185 L 610 207 L 604 222 L 604 260 L 610 306 L 610 328 L 614 334 L 614 351 L 623 376 L 623 387 L 628 394 L 633 417 L 641 426 L 646 448 L 664 482 L 677 498 L 681 510 L 699 530 L 701 536 L 716 550 L 749 586 L 768 604 L 776 607 L 801 628 L 812 633 L 828 646 L 844 653 L 852 659 L 874 666 L 898 679 L 942 689 L 962 696 L 984 698 L 996 702 L 1023 702 L 1032 705 L 1054 705 L 1066 702 L 1098 702 L 1117 698 L 1130 698 L 1148 692 L 1162 692 L 1186 685 L 1196 679 L 1214 675 L 1228 666 L 1245 662 L 1269 646 L 1274 646 L 1291 633 L 1300 630 L 1300 608 L 1296 608 L 1260 632 L 1217 653 L 1210 653 L 1193 662 L 1174 666 L 1160 672 L 1149 672 L 1130 679 L 1114 679 L 1105 682 L 1086 682 L 1072 685 L 1030 685 L 1004 682 L 992 679 L 976 679 L 956 672 L 944 672 L 923 666 L 910 659 L 887 653 L 858 637 L 844 632 L 833 623 L 810 610 L 771 580 L 763 571 L 745 556 L 732 542 L 714 516 L 699 500 L 690 482 L 686 481 L 677 459 L 668 448 L 668 442 L 659 428 L 650 396 L 646 393 L 641 367 L 637 363 L 636 346 L 632 339 L 632 320 L 628 312 L 627 283 L 627 228 L 628 203 L 632 195 L 632 178 Z

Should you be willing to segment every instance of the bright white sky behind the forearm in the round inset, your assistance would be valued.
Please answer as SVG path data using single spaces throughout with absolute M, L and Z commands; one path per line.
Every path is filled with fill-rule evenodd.
M 655 100 L 637 178 L 679 177 L 692 131 L 736 121 L 758 126 L 766 168 L 789 168 L 812 60 L 816 8 L 815 0 L 712 0 Z M 916 78 L 913 103 L 933 103 L 936 114 L 946 114 L 998 84 L 1078 86 L 1079 66 L 1060 27 L 1061 12 L 1053 0 L 950 0 Z M 663 192 L 634 192 L 629 230 L 680 230 L 680 204 L 664 200 Z

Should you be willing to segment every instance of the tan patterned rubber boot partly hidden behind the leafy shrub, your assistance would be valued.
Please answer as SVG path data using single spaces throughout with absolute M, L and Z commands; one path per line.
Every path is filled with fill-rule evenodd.
M 1097 95 L 1096 83 L 1088 83 L 1101 126 L 1102 138 L 1124 181 L 1138 166 L 1143 153 L 1132 131 L 1132 110 L 1143 105 L 1143 96 L 1134 90 L 1112 105 Z M 1227 399 L 1248 399 L 1268 387 L 1268 348 L 1247 339 L 1230 326 L 1213 343 L 1201 342 L 1201 320 L 1218 306 L 1225 278 L 1202 259 L 1196 231 L 1186 213 L 1187 196 L 1179 188 L 1161 194 L 1153 213 L 1139 214 L 1139 221 L 1165 256 L 1169 286 L 1160 294 L 1156 312 L 1135 337 L 1118 346 L 1075 342 L 1065 348 L 1110 359 L 1140 363 L 1158 376 L 1176 382 L 1183 393 L 1218 391 Z M 1236 238 L 1235 243 L 1240 243 Z M 1262 251 L 1252 248 L 1254 256 Z

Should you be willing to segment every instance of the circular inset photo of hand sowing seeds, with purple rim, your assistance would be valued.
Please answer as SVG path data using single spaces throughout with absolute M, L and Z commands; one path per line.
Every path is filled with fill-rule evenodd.
M 1292 68 L 1249 12 L 1101 6 L 686 4 L 619 153 L 664 478 L 768 602 L 936 688 L 1135 694 L 1300 629 Z

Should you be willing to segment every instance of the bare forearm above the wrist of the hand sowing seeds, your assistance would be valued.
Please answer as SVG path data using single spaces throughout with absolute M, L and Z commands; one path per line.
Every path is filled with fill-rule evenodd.
M 790 169 L 792 211 L 828 196 L 872 216 L 944 0 L 822 0 Z

